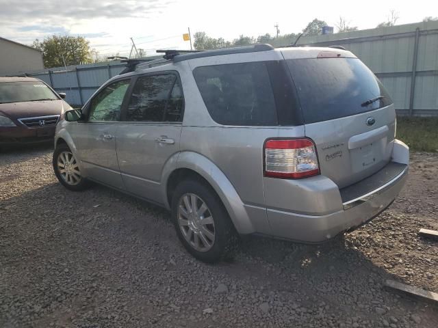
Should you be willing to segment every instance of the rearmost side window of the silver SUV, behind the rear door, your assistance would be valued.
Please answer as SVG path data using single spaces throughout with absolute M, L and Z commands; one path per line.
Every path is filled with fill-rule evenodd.
M 195 68 L 194 79 L 215 122 L 236 126 L 279 124 L 266 62 Z

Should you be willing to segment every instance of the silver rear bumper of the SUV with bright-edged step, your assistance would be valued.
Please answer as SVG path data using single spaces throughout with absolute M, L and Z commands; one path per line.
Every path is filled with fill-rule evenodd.
M 396 152 L 404 152 L 402 163 L 394 161 L 400 161 L 400 156 L 393 156 L 393 162 L 370 178 L 346 189 L 338 189 L 340 197 L 336 206 L 339 209 L 331 213 L 307 215 L 268 208 L 272 235 L 305 243 L 322 243 L 340 232 L 353 230 L 370 221 L 394 202 L 404 186 L 409 169 L 407 149 L 404 144 L 394 148 Z M 315 208 L 318 208 L 318 204 L 315 204 Z

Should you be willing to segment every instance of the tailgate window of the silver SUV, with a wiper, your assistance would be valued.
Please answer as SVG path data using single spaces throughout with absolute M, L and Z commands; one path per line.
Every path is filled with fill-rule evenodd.
M 305 123 L 372 111 L 392 103 L 382 83 L 357 58 L 288 59 Z M 376 98 L 383 96 L 380 100 Z M 366 104 L 367 100 L 376 101 Z

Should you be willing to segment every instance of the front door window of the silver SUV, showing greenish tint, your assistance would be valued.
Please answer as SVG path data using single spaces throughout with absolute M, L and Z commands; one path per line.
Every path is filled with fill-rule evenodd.
M 129 87 L 130 80 L 117 81 L 107 85 L 91 100 L 90 122 L 120 120 L 120 108 Z

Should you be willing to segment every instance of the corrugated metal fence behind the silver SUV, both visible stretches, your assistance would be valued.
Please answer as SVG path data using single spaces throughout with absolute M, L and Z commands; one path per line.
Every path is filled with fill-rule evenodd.
M 381 79 L 399 114 L 438 115 L 438 21 L 301 38 L 298 44 L 344 46 Z M 70 104 L 81 105 L 124 66 L 111 61 L 28 75 L 44 80 L 57 92 L 66 92 Z

